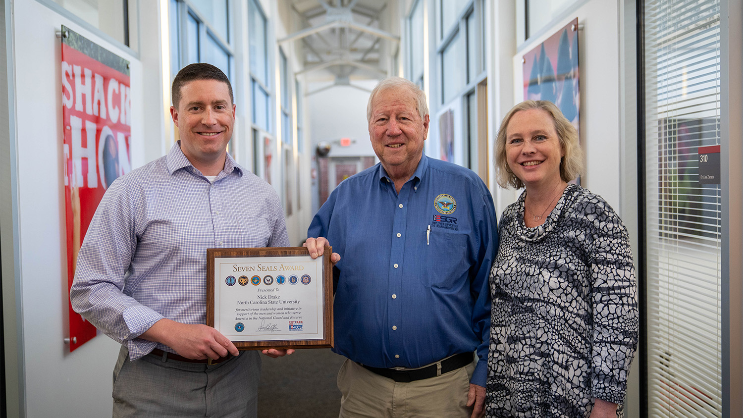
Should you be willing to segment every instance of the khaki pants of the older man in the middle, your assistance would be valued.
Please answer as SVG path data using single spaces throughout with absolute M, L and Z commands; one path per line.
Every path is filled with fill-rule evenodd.
M 339 418 L 469 418 L 475 362 L 441 376 L 395 382 L 346 359 L 338 372 Z

